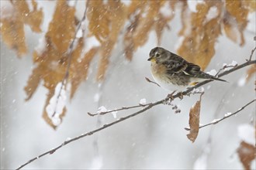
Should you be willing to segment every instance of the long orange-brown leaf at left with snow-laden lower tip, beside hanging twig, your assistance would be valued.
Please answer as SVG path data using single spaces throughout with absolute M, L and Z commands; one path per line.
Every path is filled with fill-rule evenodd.
M 47 87 L 49 93 L 47 101 L 43 108 L 43 118 L 52 128 L 57 128 L 58 124 L 54 123 L 54 117 L 47 114 L 47 106 L 49 106 L 50 99 L 57 95 L 57 84 L 63 82 L 67 71 L 67 50 L 74 39 L 74 7 L 67 5 L 66 1 L 57 1 L 54 18 L 50 22 L 48 32 L 45 36 L 45 47 L 42 52 L 33 53 L 34 63 L 37 67 L 33 70 L 33 75 L 30 76 L 29 81 L 25 87 L 27 99 L 29 99 L 38 87 L 40 80 L 43 80 L 44 87 Z M 83 41 L 78 41 L 78 46 L 73 50 L 71 57 L 77 59 L 80 56 Z M 72 74 L 72 73 L 71 73 Z M 55 94 L 54 94 L 55 92 Z M 57 104 L 56 108 L 57 109 Z M 62 120 L 66 108 L 64 107 L 62 113 L 58 118 Z

